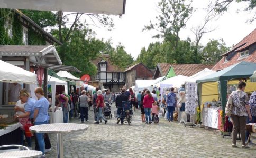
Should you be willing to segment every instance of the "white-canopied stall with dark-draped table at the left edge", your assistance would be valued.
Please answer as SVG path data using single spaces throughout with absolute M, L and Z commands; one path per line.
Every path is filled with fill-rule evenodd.
M 7 117 L 7 120 L 11 120 L 12 123 L 6 124 L 8 125 L 7 127 L 2 127 L 0 129 L 0 145 L 20 144 L 20 138 L 22 134 L 20 130 L 21 124 L 15 120 L 12 120 L 12 116 L 15 113 L 13 110 L 15 104 L 13 102 L 12 104 L 14 105 L 8 104 L 8 93 L 5 93 L 4 87 L 8 86 L 8 83 L 15 82 L 36 84 L 36 74 L 4 62 L 2 60 L 0 60 L 0 66 L 4 67 L 0 70 L 0 91 L 2 92 L 2 94 L 4 94 L 0 96 L 0 103 L 2 104 L 0 105 L 0 115 L 5 115 Z M 3 98 L 3 96 L 5 97 Z M 0 124 L 3 124 L 3 122 L 1 122 Z

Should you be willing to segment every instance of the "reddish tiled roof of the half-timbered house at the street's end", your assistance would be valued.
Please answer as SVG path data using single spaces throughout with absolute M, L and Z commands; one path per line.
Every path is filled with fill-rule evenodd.
M 95 60 L 92 60 L 92 62 L 98 68 L 98 63 L 102 59 L 107 62 L 107 72 L 124 72 L 124 70 L 122 70 L 121 68 L 119 68 L 111 62 L 109 54 L 102 54 L 100 55 L 100 57 L 96 58 Z

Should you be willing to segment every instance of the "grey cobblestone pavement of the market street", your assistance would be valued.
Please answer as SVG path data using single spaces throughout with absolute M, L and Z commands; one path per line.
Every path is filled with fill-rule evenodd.
M 112 106 L 112 111 L 115 107 Z M 215 132 L 169 123 L 146 125 L 140 112 L 134 112 L 132 124 L 116 124 L 114 113 L 107 124 L 94 124 L 89 111 L 89 129 L 63 136 L 65 157 L 256 157 L 256 147 L 231 147 L 231 137 L 222 138 Z M 72 119 L 71 123 L 81 123 Z M 50 134 L 52 150 L 47 157 L 56 157 L 56 135 Z

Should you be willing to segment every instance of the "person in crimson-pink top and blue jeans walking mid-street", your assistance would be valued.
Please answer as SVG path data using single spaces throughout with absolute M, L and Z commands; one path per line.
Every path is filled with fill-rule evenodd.
M 152 97 L 150 91 L 147 90 L 143 100 L 143 108 L 146 114 L 146 124 L 151 124 L 151 109 L 152 109 L 153 103 L 154 103 L 154 98 Z

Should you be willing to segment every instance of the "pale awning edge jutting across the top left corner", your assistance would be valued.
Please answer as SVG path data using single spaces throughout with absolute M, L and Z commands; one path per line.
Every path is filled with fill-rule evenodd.
M 126 0 L 2 0 L 1 8 L 122 15 Z

